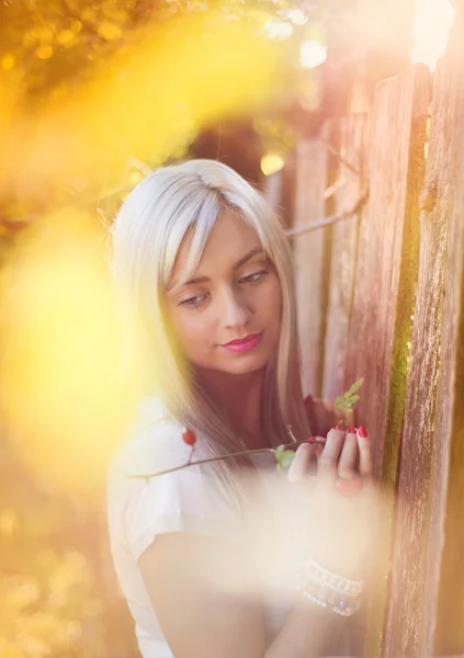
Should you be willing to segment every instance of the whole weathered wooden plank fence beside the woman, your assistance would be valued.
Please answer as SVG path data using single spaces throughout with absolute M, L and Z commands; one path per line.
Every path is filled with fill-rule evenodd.
M 333 399 L 364 377 L 358 409 L 388 500 L 369 658 L 464 655 L 462 36 L 433 79 L 415 66 L 383 81 L 369 116 L 325 126 L 269 186 L 297 234 L 304 392 Z

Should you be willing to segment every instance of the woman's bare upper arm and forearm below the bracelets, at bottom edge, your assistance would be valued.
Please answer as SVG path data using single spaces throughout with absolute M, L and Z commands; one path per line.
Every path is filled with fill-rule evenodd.
M 138 565 L 176 658 L 330 655 L 346 621 L 302 600 L 295 602 L 267 647 L 253 569 L 235 545 L 195 534 L 169 533 L 149 546 Z

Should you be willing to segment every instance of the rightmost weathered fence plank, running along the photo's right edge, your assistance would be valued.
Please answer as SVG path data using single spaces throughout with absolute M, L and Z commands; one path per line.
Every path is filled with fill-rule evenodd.
M 464 653 L 462 26 L 435 73 L 421 206 L 387 656 Z

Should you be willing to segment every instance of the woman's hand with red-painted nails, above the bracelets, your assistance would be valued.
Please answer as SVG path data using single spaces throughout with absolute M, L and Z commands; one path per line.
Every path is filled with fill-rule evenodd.
M 380 506 L 372 480 L 371 438 L 331 429 L 327 440 L 304 443 L 296 451 L 288 480 L 307 497 L 312 540 L 312 557 L 348 578 L 362 578 L 376 536 Z M 317 475 L 310 477 L 310 465 L 317 457 Z M 360 477 L 361 490 L 344 497 L 337 479 Z M 342 480 L 343 481 L 343 480 Z

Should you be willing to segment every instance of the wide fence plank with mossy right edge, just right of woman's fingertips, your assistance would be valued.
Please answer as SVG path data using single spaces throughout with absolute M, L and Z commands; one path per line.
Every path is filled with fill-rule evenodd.
M 418 268 L 418 196 L 430 90 L 427 67 L 377 88 L 367 146 L 370 201 L 362 213 L 347 377 L 364 377 L 359 417 L 373 438 L 374 472 L 385 494 L 375 553 L 365 654 L 380 654 Z

